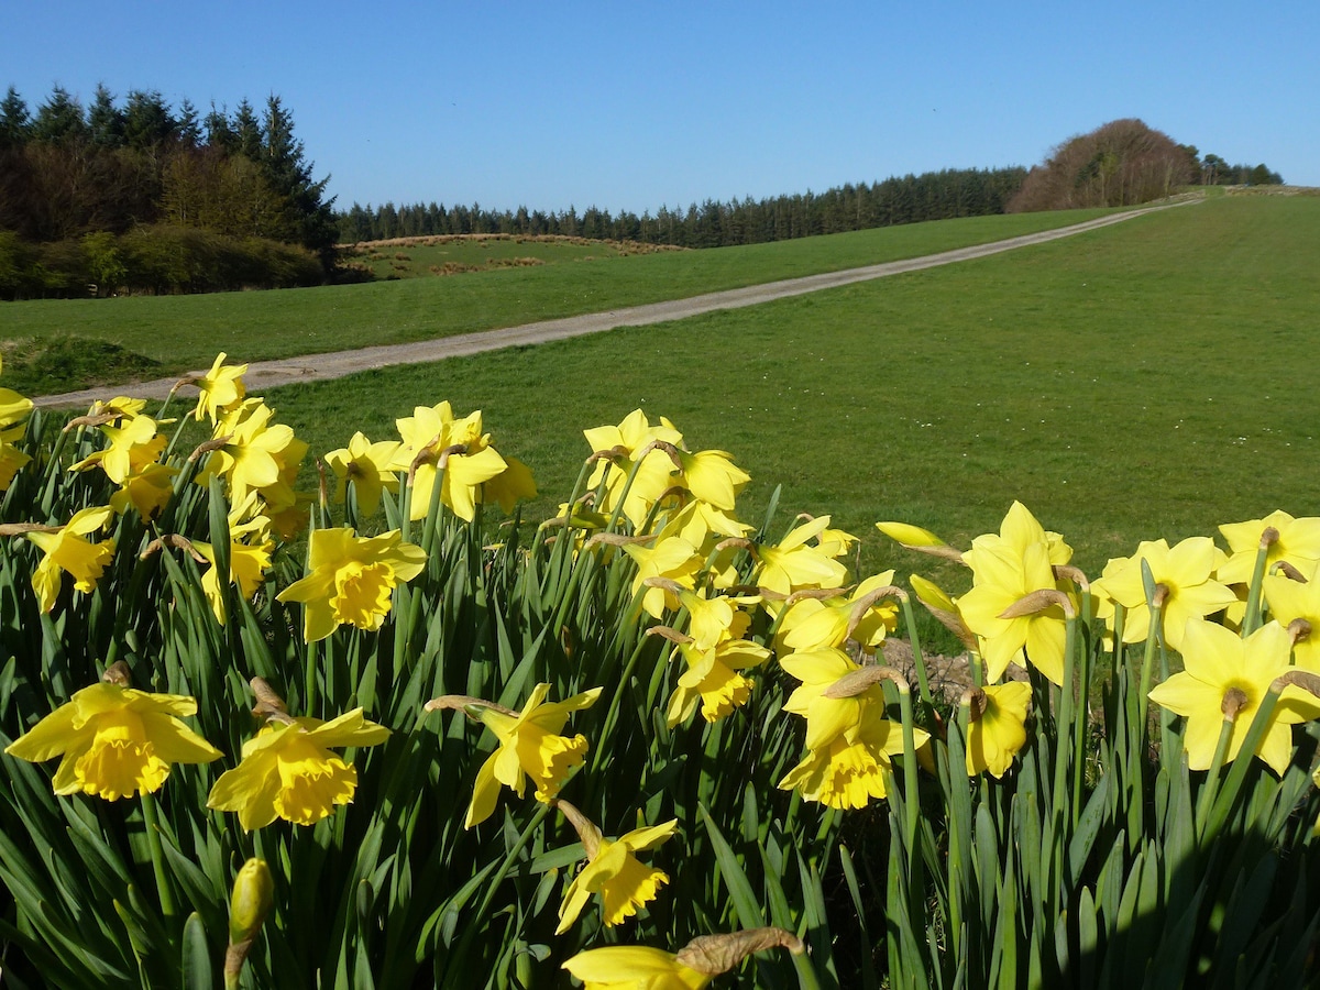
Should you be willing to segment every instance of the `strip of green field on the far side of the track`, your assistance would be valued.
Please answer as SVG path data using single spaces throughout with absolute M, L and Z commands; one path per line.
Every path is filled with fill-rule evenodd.
M 1104 210 L 1016 216 L 978 216 L 830 238 L 742 248 L 682 251 L 598 259 L 579 264 L 500 268 L 447 279 L 407 279 L 280 292 L 209 296 L 46 300 L 0 306 L 0 346 L 33 350 L 57 338 L 102 342 L 121 350 L 86 362 L 59 362 L 73 375 L 46 379 L 46 393 L 123 380 L 120 363 L 140 358 L 168 375 L 209 367 L 216 351 L 235 360 L 425 341 L 451 334 L 515 326 L 619 306 L 685 298 L 704 292 L 816 272 L 916 257 L 982 244 L 1038 230 L 1063 227 Z M 577 251 L 566 246 L 566 251 Z M 408 253 L 408 249 L 400 249 Z M 88 345 L 87 351 L 91 350 Z M 17 363 L 12 370 L 17 372 Z M 15 388 L 25 385 L 11 385 Z

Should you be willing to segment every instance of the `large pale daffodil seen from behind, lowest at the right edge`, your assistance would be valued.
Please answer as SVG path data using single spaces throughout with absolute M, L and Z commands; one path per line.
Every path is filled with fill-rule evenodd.
M 1193 618 L 1181 644 L 1184 669 L 1156 685 L 1150 697 L 1187 719 L 1187 764 L 1208 770 L 1229 710 L 1236 714 L 1225 762 L 1237 758 L 1266 692 L 1290 669 L 1292 638 L 1276 622 L 1239 639 L 1222 626 Z M 1320 702 L 1315 697 L 1300 688 L 1284 688 L 1255 755 L 1282 775 L 1292 758 L 1292 726 L 1316 715 Z

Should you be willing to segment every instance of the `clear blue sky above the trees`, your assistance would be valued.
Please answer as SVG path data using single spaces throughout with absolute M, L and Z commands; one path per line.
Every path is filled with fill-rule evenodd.
M 1320 3 L 5 4 L 0 90 L 279 94 L 338 206 L 754 198 L 1140 117 L 1320 185 Z

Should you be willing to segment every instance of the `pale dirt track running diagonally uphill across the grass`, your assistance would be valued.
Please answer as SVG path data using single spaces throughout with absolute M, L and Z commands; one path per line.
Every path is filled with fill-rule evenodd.
M 370 368 L 388 368 L 397 364 L 424 364 L 428 362 L 458 358 L 467 354 L 494 351 L 502 347 L 516 347 L 523 345 L 544 343 L 545 341 L 562 341 L 569 337 L 583 334 L 597 334 L 612 330 L 619 326 L 642 326 L 645 323 L 660 323 L 669 319 L 684 319 L 701 313 L 710 313 L 717 309 L 737 309 L 739 306 L 755 306 L 762 302 L 801 296 L 820 289 L 833 289 L 838 285 L 851 285 L 853 282 L 883 279 L 890 275 L 915 272 L 923 268 L 936 268 L 937 265 L 953 264 L 954 261 L 968 261 L 974 257 L 998 255 L 1003 251 L 1014 251 L 1031 244 L 1044 244 L 1049 240 L 1069 238 L 1073 234 L 1107 227 L 1111 223 L 1121 223 L 1134 216 L 1140 216 L 1158 210 L 1168 210 L 1173 206 L 1200 202 L 1200 199 L 1181 199 L 1163 203 L 1160 206 L 1130 210 L 1127 213 L 1102 216 L 1097 220 L 1074 223 L 1071 227 L 1041 231 L 1039 234 L 1026 234 L 1020 238 L 997 240 L 990 244 L 977 244 L 974 247 L 956 248 L 937 255 L 924 257 L 909 257 L 902 261 L 887 261 L 884 264 L 867 265 L 865 268 L 849 268 L 842 272 L 825 272 L 822 275 L 808 275 L 800 279 L 785 279 L 763 285 L 748 285 L 742 289 L 727 289 L 725 292 L 710 292 L 705 296 L 693 296 L 672 302 L 652 302 L 645 306 L 630 306 L 627 309 L 611 309 L 603 313 L 589 313 L 579 317 L 566 317 L 564 319 L 545 319 L 539 323 L 524 323 L 502 330 L 484 330 L 473 334 L 459 334 L 457 337 L 444 337 L 438 341 L 420 341 L 416 343 L 381 345 L 378 347 L 362 347 L 352 351 L 331 351 L 329 354 L 309 354 L 300 358 L 281 358 L 279 360 L 253 362 L 248 366 L 244 380 L 248 392 L 260 393 L 276 385 L 288 385 L 296 381 L 323 381 L 326 379 L 343 378 L 355 371 Z M 205 368 L 197 374 L 205 374 Z M 33 401 L 38 407 L 75 407 L 82 408 L 100 399 L 112 399 L 116 395 L 131 392 L 143 399 L 164 399 L 178 378 L 156 379 L 132 385 L 88 388 L 81 392 L 65 392 L 62 395 L 41 396 Z

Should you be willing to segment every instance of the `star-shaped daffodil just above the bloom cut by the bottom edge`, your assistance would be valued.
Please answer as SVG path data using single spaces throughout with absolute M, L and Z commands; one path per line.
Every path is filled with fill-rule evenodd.
M 568 801 L 557 804 L 577 829 L 587 862 L 564 894 L 556 935 L 562 935 L 573 927 L 593 894 L 601 898 L 603 908 L 601 920 L 606 928 L 623 924 L 638 913 L 638 908 L 655 900 L 660 887 L 669 882 L 669 876 L 661 870 L 643 866 L 634 854 L 653 849 L 673 836 L 678 828 L 677 818 L 663 825 L 634 829 L 616 840 L 609 840 Z

